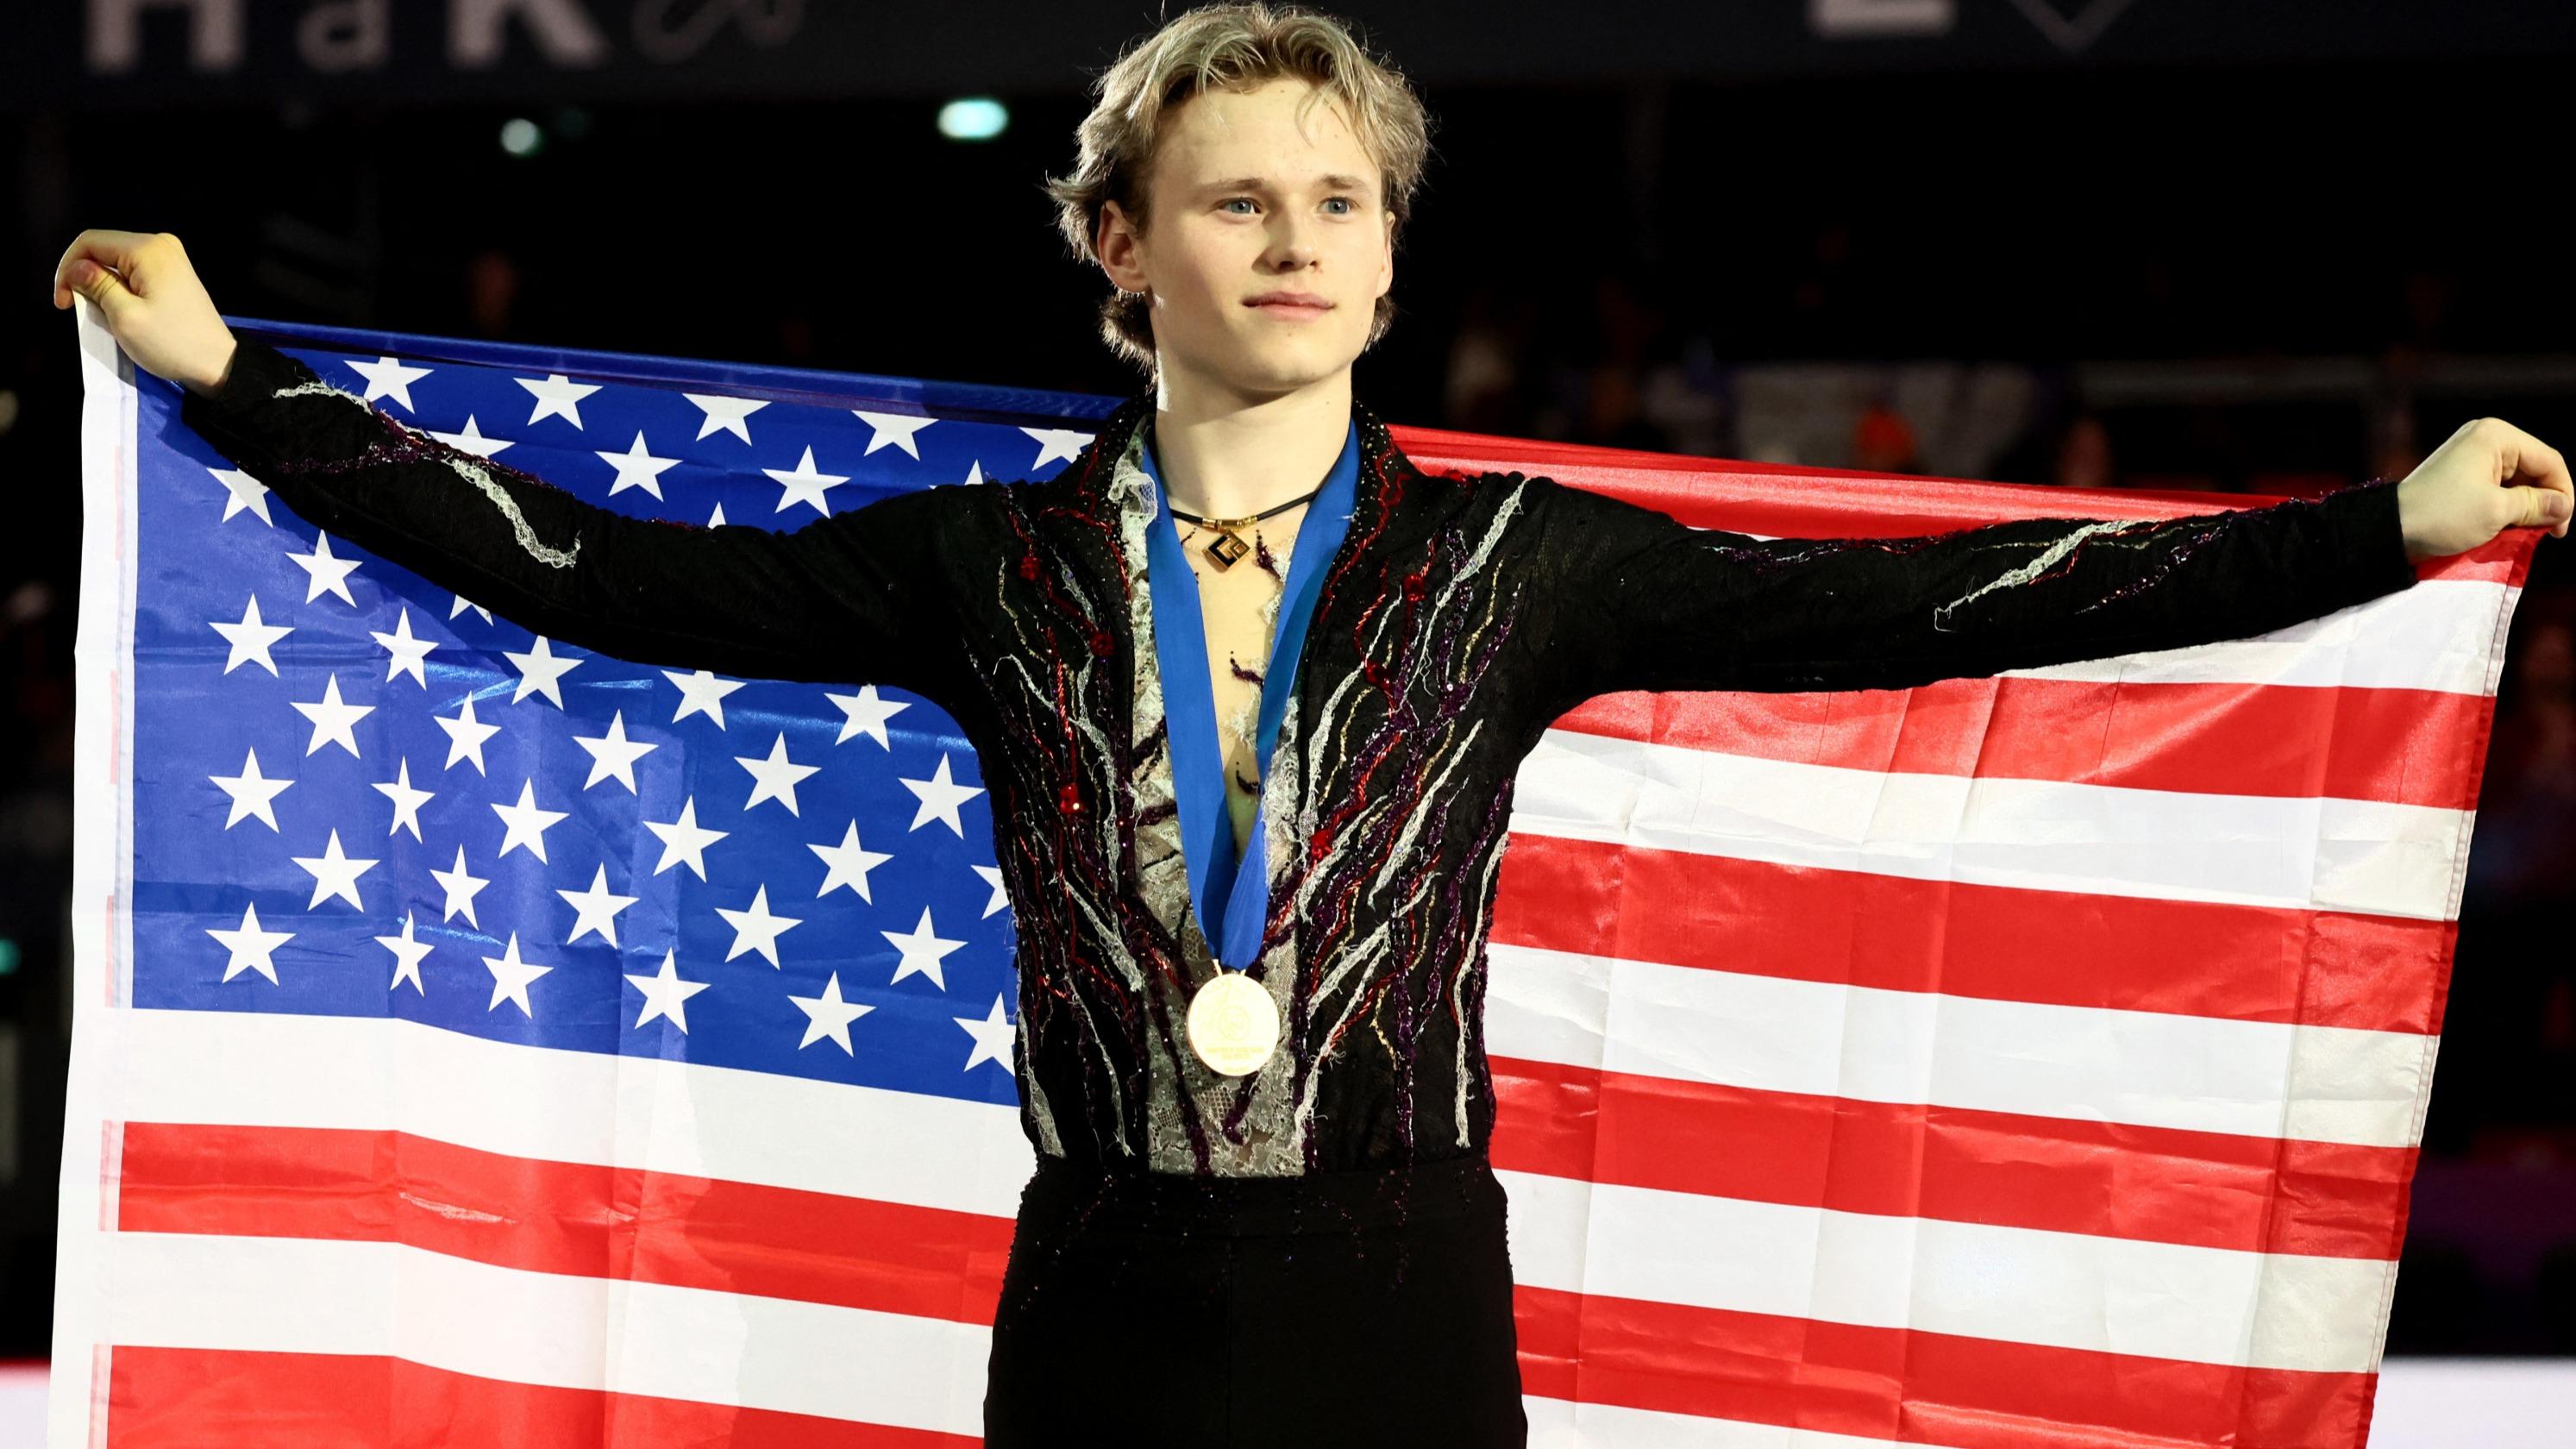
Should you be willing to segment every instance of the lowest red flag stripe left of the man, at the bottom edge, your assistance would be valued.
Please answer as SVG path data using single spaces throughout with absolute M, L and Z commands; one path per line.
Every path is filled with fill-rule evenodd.
M 106 1449 L 969 1449 L 979 1436 L 652 1395 L 513 1385 L 371 1354 L 121 1343 Z

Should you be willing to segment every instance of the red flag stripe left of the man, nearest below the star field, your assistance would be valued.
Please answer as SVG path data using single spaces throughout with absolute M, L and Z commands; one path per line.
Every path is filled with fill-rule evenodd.
M 327 1127 L 126 1124 L 116 1225 L 992 1323 L 1010 1217 Z

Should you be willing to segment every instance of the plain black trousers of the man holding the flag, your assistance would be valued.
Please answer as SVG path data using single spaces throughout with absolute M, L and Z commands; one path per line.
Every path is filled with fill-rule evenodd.
M 1486 1158 L 1296 1178 L 1038 1158 L 984 1385 L 989 1449 L 1522 1449 Z M 1399 1276 L 1401 1274 L 1401 1276 Z

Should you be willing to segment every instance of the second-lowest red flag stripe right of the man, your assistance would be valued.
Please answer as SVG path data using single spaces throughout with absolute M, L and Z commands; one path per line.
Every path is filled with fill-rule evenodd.
M 2385 1261 L 2416 1168 L 2411 1147 L 1958 1106 L 1935 1127 L 1919 1104 L 1492 1067 L 1497 1168 L 1878 1217 Z

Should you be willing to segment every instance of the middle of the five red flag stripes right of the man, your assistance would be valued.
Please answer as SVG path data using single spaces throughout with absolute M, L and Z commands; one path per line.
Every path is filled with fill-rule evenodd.
M 2458 920 L 1512 835 L 1492 941 L 1883 990 L 2439 1034 L 2455 933 Z

